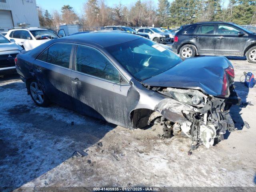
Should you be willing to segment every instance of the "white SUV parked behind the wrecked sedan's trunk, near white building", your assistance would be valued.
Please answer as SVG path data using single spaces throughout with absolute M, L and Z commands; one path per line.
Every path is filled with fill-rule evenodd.
M 51 40 L 58 38 L 47 29 L 41 28 L 16 28 L 9 30 L 5 35 L 9 40 L 13 39 L 17 44 L 23 46 L 26 51 Z M 12 40 L 12 41 L 13 41 Z

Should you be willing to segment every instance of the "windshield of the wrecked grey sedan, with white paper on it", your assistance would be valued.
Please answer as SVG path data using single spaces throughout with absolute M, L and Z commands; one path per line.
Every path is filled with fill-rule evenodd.
M 182 62 L 178 55 L 145 38 L 109 46 L 106 50 L 139 81 L 156 76 Z

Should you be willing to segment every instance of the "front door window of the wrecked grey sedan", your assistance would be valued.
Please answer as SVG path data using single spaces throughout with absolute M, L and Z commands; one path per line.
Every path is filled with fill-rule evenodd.
M 76 71 L 103 78 L 114 83 L 120 82 L 119 72 L 114 65 L 100 52 L 90 47 L 77 47 Z

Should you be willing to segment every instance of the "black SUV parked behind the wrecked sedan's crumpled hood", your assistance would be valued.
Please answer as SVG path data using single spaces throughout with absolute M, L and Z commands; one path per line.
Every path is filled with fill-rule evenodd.
M 198 22 L 176 33 L 172 50 L 183 58 L 246 56 L 249 62 L 256 63 L 256 34 L 234 23 Z

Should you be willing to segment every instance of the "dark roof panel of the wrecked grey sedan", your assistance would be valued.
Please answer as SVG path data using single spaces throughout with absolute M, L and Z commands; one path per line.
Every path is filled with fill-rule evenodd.
M 84 34 L 77 34 L 67 36 L 64 38 L 58 38 L 54 42 L 69 42 L 78 44 L 92 44 L 100 47 L 108 47 L 116 44 L 122 44 L 125 42 L 133 41 L 139 38 L 143 38 L 138 35 L 130 33 L 117 33 L 117 32 L 90 32 Z

